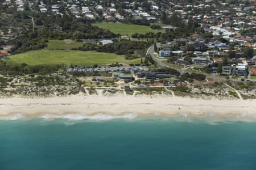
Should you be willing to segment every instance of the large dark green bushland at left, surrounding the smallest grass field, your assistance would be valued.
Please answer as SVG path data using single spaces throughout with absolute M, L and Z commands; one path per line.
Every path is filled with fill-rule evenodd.
M 35 11 L 16 12 L 7 10 L 7 8 L 1 8 L 1 11 L 11 13 L 12 22 L 15 24 L 10 23 L 8 25 L 16 27 L 16 23 L 22 23 L 21 26 L 25 30 L 17 39 L 8 43 L 14 45 L 11 51 L 13 53 L 42 49 L 47 46 L 48 39 L 109 39 L 121 36 L 93 26 L 86 18 L 76 19 L 74 16 L 67 14 L 60 16 Z M 34 19 L 35 27 L 32 25 L 31 18 Z

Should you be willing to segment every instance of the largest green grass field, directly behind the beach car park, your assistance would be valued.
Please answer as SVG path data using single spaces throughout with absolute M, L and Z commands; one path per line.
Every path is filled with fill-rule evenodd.
M 64 64 L 93 66 L 108 65 L 111 63 L 141 63 L 141 58 L 126 60 L 125 56 L 111 53 L 81 52 L 74 50 L 34 50 L 22 54 L 10 56 L 8 62 L 27 63 L 28 65 L 39 64 Z

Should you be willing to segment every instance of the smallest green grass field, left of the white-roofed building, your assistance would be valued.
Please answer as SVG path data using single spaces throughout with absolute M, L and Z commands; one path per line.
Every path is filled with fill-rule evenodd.
M 84 42 L 76 42 L 73 40 L 48 40 L 46 49 L 64 49 L 79 48 L 84 45 Z

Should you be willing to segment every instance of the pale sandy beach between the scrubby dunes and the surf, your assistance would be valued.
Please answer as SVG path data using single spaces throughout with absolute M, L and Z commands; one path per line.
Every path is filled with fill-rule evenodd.
M 0 118 L 73 118 L 86 116 L 256 116 L 256 100 L 203 100 L 150 96 L 65 96 L 48 98 L 12 97 L 0 99 Z M 14 117 L 13 117 L 14 116 Z M 97 117 L 95 117 L 97 119 Z M 108 118 L 108 117 L 107 117 Z

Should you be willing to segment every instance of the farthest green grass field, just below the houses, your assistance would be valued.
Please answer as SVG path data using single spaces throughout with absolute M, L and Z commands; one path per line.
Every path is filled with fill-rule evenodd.
M 109 29 L 114 33 L 120 33 L 122 36 L 131 36 L 134 33 L 147 33 L 147 32 L 164 32 L 163 30 L 154 30 L 148 26 L 144 25 L 134 25 L 134 24 L 121 24 L 121 23 L 95 23 L 93 24 L 97 27 Z

